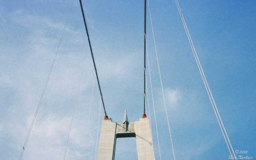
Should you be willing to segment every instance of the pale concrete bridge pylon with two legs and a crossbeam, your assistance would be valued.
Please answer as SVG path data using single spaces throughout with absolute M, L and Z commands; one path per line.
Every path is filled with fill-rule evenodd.
M 136 122 L 116 123 L 103 120 L 100 133 L 98 160 L 114 160 L 116 138 L 136 137 L 139 160 L 155 160 L 153 140 L 148 118 Z

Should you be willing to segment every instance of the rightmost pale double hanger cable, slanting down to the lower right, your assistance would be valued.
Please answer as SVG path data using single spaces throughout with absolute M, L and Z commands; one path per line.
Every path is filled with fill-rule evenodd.
M 234 152 L 234 150 L 233 150 L 233 147 L 232 147 L 232 144 L 231 144 L 231 142 L 230 142 L 230 140 L 229 140 L 227 131 L 226 131 L 225 126 L 224 126 L 224 124 L 223 124 L 223 122 L 222 122 L 222 119 L 221 119 L 221 117 L 220 117 L 219 110 L 218 110 L 218 108 L 217 108 L 217 106 L 216 106 L 216 103 L 215 103 L 215 101 L 214 101 L 214 98 L 213 98 L 213 96 L 212 96 L 211 89 L 210 89 L 210 87 L 209 87 L 209 85 L 208 85 L 208 82 L 207 82 L 207 80 L 206 80 L 206 77 L 205 77 L 205 75 L 204 75 L 203 68 L 202 68 L 201 63 L 200 63 L 200 61 L 199 61 L 199 59 L 198 59 L 198 56 L 197 56 L 197 53 L 196 53 L 196 49 L 195 49 L 195 46 L 194 46 L 194 44 L 193 44 L 192 38 L 191 38 L 191 36 L 190 36 L 190 34 L 189 34 L 188 27 L 187 27 L 187 24 L 186 24 L 185 19 L 184 19 L 184 17 L 183 17 L 182 11 L 181 11 L 181 9 L 180 9 L 179 2 L 178 2 L 178 0 L 175 0 L 175 2 L 176 2 L 176 5 L 177 5 L 177 7 L 178 7 L 178 10 L 179 10 L 179 13 L 180 13 L 180 17 L 181 17 L 183 26 L 184 26 L 184 28 L 185 28 L 185 31 L 186 31 L 186 34 L 187 34 L 187 37 L 188 37 L 190 46 L 191 46 L 191 48 L 192 48 L 194 57 L 195 57 L 195 59 L 196 59 L 196 64 L 197 64 L 197 66 L 198 66 L 198 68 L 199 68 L 201 77 L 202 77 L 202 79 L 203 79 L 203 81 L 204 81 L 204 86 L 205 86 L 205 88 L 206 88 L 207 94 L 208 94 L 209 99 L 210 99 L 210 101 L 211 101 L 212 108 L 213 108 L 213 110 L 214 110 L 214 113 L 215 113 L 216 118 L 217 118 L 217 120 L 218 120 L 218 123 L 219 123 L 219 125 L 220 125 L 220 129 L 221 129 L 222 135 L 223 135 L 223 137 L 224 137 L 224 139 L 225 139 L 225 142 L 226 142 L 226 144 L 227 144 L 227 147 L 228 147 L 228 150 L 229 150 L 230 155 L 232 156 L 231 151 L 230 151 L 230 148 L 231 148 L 231 150 L 232 150 L 232 152 L 233 152 L 233 155 L 234 155 L 234 158 L 236 159 L 236 154 L 235 154 L 235 152 Z M 216 114 L 216 111 L 217 111 L 217 114 L 218 114 L 218 115 Z M 220 122 L 221 122 L 221 124 L 220 124 Z M 224 129 L 224 132 L 225 132 L 225 135 L 226 135 L 226 136 L 224 135 L 224 132 L 223 132 L 223 129 L 222 129 L 222 128 Z M 226 139 L 226 138 L 228 139 L 228 142 L 227 142 L 227 139 Z M 229 143 L 229 145 L 228 145 L 228 143 Z M 230 146 L 230 148 L 229 148 L 229 146 Z

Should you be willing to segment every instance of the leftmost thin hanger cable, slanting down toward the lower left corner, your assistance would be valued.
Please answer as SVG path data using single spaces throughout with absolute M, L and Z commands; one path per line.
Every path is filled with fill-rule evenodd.
M 59 41 L 57 50 L 56 50 L 56 52 L 55 52 L 55 56 L 54 56 L 53 61 L 52 61 L 52 66 L 51 66 L 50 71 L 49 71 L 49 73 L 48 73 L 46 82 L 45 82 L 45 84 L 44 84 L 44 89 L 43 89 L 43 92 L 42 92 L 42 94 L 41 94 L 40 100 L 39 100 L 39 102 L 38 102 L 38 104 L 37 104 L 36 112 L 35 112 L 35 114 L 34 114 L 33 120 L 32 120 L 31 125 L 30 125 L 30 127 L 29 127 L 28 134 L 27 134 L 25 143 L 24 143 L 24 145 L 23 145 L 23 147 L 22 147 L 19 160 L 21 160 L 21 158 L 22 158 L 22 156 L 23 156 L 24 150 L 25 150 L 26 145 L 27 145 L 27 142 L 28 142 L 28 138 L 29 138 L 30 132 L 31 132 L 31 130 L 32 130 L 32 127 L 33 127 L 34 122 L 35 122 L 35 119 L 36 119 L 36 115 L 37 115 L 38 109 L 39 109 L 39 107 L 40 107 L 40 105 L 41 105 L 41 102 L 42 102 L 42 99 L 43 99 L 43 96 L 44 96 L 44 92 L 45 92 L 45 89 L 46 89 L 46 87 L 47 87 L 47 84 L 48 84 L 50 75 L 51 75 L 51 73 L 52 73 L 52 68 L 53 68 L 55 59 L 56 59 L 56 57 L 57 57 L 59 48 L 60 48 L 61 39 L 62 39 L 62 37 L 63 37 L 63 35 L 64 35 L 64 31 L 65 31 L 66 26 L 67 26 L 67 24 L 68 24 L 68 19 L 69 19 L 71 10 L 72 10 L 72 8 L 73 8 L 73 4 L 74 4 L 74 0 L 73 0 L 73 2 L 72 2 L 71 7 L 70 7 L 70 10 L 69 10 L 69 12 L 68 12 L 68 17 L 67 17 L 67 19 L 66 19 L 66 22 L 65 22 L 65 25 L 64 25 L 64 29 L 63 29 L 63 31 L 62 31 L 62 33 L 61 33 L 61 36 L 60 36 L 60 41 Z

